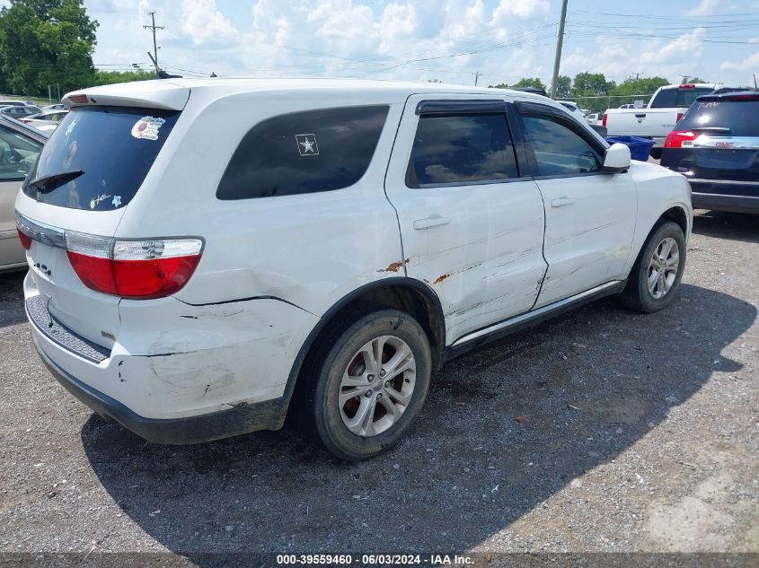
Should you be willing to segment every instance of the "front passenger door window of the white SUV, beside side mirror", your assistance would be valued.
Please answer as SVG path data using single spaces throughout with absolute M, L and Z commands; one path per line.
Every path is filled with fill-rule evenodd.
M 550 116 L 523 116 L 527 141 L 532 145 L 540 176 L 567 176 L 600 171 L 596 150 L 582 136 Z

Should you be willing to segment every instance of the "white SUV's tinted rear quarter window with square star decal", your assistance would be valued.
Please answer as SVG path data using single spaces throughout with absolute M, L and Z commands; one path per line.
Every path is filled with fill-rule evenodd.
M 216 197 L 292 196 L 352 186 L 372 161 L 388 109 L 308 110 L 264 120 L 237 146 Z

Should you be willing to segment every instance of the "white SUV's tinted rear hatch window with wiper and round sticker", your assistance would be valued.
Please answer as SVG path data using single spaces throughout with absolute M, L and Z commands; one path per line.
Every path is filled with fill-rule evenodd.
M 128 205 L 180 112 L 76 107 L 40 153 L 23 192 L 41 203 L 90 211 Z

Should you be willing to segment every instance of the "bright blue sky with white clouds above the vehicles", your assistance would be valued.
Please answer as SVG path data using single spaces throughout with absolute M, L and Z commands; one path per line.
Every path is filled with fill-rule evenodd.
M 100 23 L 95 64 L 190 75 L 353 76 L 548 83 L 560 0 L 85 0 Z M 561 73 L 753 83 L 759 0 L 569 0 Z

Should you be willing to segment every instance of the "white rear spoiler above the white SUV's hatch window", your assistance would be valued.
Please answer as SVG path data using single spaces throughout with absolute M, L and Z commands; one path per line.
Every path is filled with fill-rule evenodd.
M 82 106 L 139 107 L 147 109 L 184 109 L 190 89 L 167 80 L 117 83 L 68 92 L 63 97 L 66 109 Z

